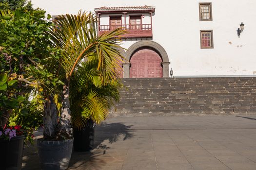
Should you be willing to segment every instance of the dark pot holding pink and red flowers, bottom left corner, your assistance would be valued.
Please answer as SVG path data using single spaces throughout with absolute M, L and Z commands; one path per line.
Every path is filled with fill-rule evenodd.
M 0 169 L 21 170 L 25 136 L 0 140 Z

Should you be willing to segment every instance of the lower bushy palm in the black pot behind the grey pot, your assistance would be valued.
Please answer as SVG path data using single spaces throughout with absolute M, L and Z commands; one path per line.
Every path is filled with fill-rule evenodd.
M 109 108 L 119 100 L 118 80 L 108 81 L 108 75 L 97 70 L 98 58 L 90 57 L 79 66 L 71 80 L 71 112 L 74 136 L 74 151 L 93 149 L 94 126 L 106 119 Z M 114 71 L 114 70 L 113 70 Z M 104 80 L 104 78 L 106 80 Z

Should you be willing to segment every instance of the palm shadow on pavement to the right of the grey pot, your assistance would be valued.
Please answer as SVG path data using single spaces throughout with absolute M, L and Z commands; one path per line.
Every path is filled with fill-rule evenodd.
M 72 153 L 69 169 L 76 170 L 101 170 L 106 164 L 108 155 L 103 159 L 101 155 L 105 154 L 108 149 L 111 149 L 106 144 L 117 142 L 119 140 L 126 140 L 132 138 L 132 126 L 124 125 L 122 123 L 102 123 L 95 128 L 94 149 L 90 152 L 74 152 Z M 105 142 L 104 142 L 105 141 Z M 104 144 L 102 144 L 104 142 Z

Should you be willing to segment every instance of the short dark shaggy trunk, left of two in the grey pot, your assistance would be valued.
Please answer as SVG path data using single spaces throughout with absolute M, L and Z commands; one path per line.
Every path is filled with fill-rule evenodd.
M 45 138 L 56 137 L 58 114 L 53 95 L 50 95 L 49 99 L 44 103 L 43 126 L 43 136 Z

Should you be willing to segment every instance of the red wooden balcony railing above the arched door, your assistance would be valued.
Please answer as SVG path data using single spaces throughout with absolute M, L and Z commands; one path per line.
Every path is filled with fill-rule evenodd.
M 126 38 L 142 38 L 152 37 L 152 25 L 151 24 L 137 24 L 137 25 L 100 25 L 98 34 L 113 31 L 117 28 L 123 28 L 128 31 L 124 36 Z

